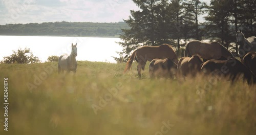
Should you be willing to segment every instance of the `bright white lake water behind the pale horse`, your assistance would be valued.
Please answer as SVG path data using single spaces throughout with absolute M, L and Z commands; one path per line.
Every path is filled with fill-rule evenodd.
M 29 48 L 34 56 L 45 62 L 48 56 L 60 56 L 71 53 L 71 43 L 77 43 L 76 60 L 111 62 L 116 61 L 122 47 L 118 43 L 120 38 L 102 37 L 57 37 L 57 36 L 0 36 L 0 61 L 4 56 L 10 56 L 18 48 Z

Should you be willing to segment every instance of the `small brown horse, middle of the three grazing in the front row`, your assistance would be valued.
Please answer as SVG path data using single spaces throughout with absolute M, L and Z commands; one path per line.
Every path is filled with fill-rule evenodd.
M 201 64 L 203 63 L 204 62 L 198 55 L 193 55 L 192 57 L 182 57 L 178 62 L 177 74 L 195 77 L 196 74 L 201 71 Z

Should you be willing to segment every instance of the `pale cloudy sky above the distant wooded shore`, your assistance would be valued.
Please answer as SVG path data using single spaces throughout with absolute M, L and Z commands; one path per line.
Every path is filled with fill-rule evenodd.
M 203 0 L 208 2 L 210 0 Z M 138 10 L 132 0 L 0 0 L 0 25 L 30 22 L 118 22 Z

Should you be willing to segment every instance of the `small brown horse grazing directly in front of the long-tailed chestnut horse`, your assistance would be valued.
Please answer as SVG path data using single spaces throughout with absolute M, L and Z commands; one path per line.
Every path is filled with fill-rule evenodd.
M 170 58 L 165 59 L 153 59 L 150 62 L 149 72 L 150 78 L 164 77 L 174 78 L 176 75 L 177 64 Z

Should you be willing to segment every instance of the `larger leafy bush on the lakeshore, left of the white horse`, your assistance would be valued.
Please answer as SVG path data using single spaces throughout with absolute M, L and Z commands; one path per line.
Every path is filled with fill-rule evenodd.
M 19 48 L 17 51 L 12 52 L 12 55 L 4 57 L 3 63 L 31 64 L 40 62 L 39 58 L 34 56 L 29 48 L 25 48 L 24 50 Z

